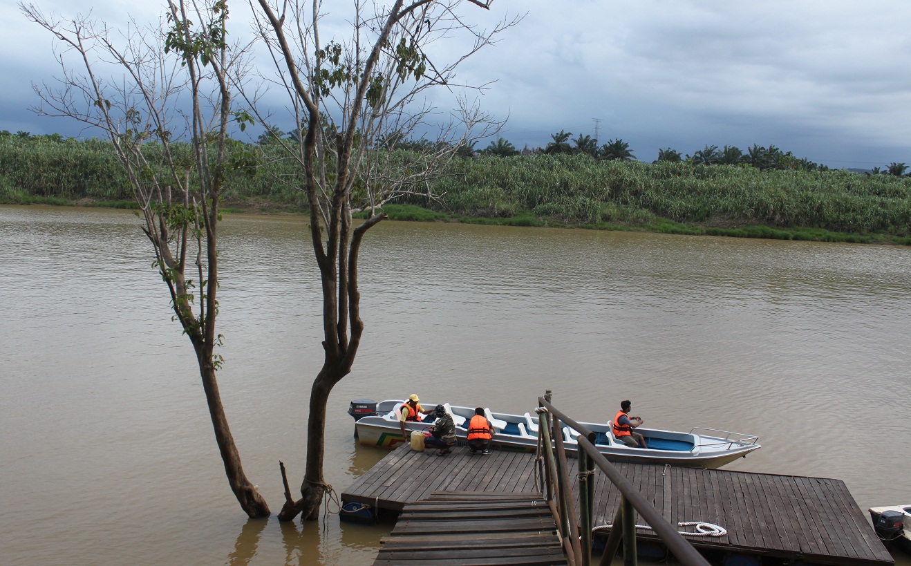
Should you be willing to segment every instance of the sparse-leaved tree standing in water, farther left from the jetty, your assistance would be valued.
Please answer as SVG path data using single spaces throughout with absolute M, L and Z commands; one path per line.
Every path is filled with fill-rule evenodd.
M 155 252 L 153 265 L 168 287 L 173 318 L 196 352 L 230 489 L 250 517 L 268 516 L 266 501 L 241 467 L 215 377 L 222 339 L 215 326 L 220 196 L 232 176 L 255 167 L 251 154 L 228 136 L 235 121 L 241 129 L 249 121 L 231 107 L 242 54 L 226 39 L 228 5 L 169 0 L 166 25 L 146 31 L 130 26 L 122 35 L 81 16 L 63 20 L 36 5 L 20 8 L 62 47 L 59 84 L 36 87 L 42 100 L 36 111 L 76 118 L 104 131 L 113 144 Z M 179 96 L 189 96 L 189 114 L 179 110 Z

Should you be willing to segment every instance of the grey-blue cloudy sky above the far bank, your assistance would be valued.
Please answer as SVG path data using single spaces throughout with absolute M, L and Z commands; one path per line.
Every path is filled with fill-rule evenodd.
M 36 4 L 111 23 L 161 11 L 154 1 Z M 502 135 L 519 149 L 598 128 L 602 143 L 623 139 L 647 161 L 659 148 L 773 144 L 833 168 L 911 163 L 907 0 L 496 0 L 474 12 L 482 23 L 527 14 L 460 72 L 496 79 L 481 104 L 508 117 Z M 28 110 L 31 84 L 57 72 L 52 38 L 13 0 L 0 5 L 0 30 L 0 129 L 75 135 L 77 125 Z

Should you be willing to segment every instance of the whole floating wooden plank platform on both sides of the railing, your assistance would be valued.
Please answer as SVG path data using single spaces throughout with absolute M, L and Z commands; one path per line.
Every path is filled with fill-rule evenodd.
M 569 460 L 572 478 L 577 462 Z M 722 537 L 686 537 L 709 554 L 740 552 L 815 564 L 894 564 L 841 480 L 653 464 L 615 466 L 671 524 L 698 520 L 727 530 Z M 341 499 L 402 511 L 406 504 L 435 493 L 539 492 L 534 468 L 533 454 L 495 450 L 490 456 L 473 456 L 466 448 L 455 448 L 437 458 L 435 450 L 415 452 L 403 446 L 344 490 Z M 578 482 L 573 486 L 578 490 Z M 594 501 L 594 524 L 612 522 L 619 493 L 601 474 L 595 478 Z M 641 524 L 638 517 L 637 522 Z M 637 537 L 658 540 L 650 530 L 638 530 Z

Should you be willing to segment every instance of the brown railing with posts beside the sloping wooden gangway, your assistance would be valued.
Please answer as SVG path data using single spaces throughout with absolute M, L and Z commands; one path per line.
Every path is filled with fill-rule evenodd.
M 571 566 L 590 566 L 591 532 L 594 527 L 595 468 L 598 468 L 619 490 L 621 499 L 617 517 L 610 529 L 601 566 L 609 566 L 623 542 L 623 563 L 636 566 L 636 511 L 649 523 L 655 534 L 684 566 L 709 566 L 709 562 L 683 538 L 677 527 L 672 526 L 648 499 L 620 474 L 617 468 L 595 447 L 595 433 L 583 427 L 550 404 L 551 393 L 538 397 L 538 447 L 544 454 L 543 470 L 548 505 L 557 520 L 563 550 Z M 578 501 L 573 498 L 569 479 L 566 449 L 563 444 L 563 427 L 578 432 Z M 622 527 L 617 528 L 620 524 Z

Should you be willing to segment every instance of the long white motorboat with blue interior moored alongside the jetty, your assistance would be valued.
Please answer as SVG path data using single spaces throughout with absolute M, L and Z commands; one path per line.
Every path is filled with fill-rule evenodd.
M 355 408 L 359 403 L 365 408 Z M 385 448 L 394 448 L 404 442 L 396 413 L 398 407 L 403 404 L 403 400 L 387 399 L 376 404 L 374 411 L 372 401 L 353 401 L 348 413 L 357 420 L 355 434 L 359 442 Z M 435 406 L 425 403 L 422 405 Z M 461 442 L 466 441 L 467 423 L 475 416 L 475 409 L 467 406 L 450 406 L 448 403 L 444 406 L 455 421 L 456 437 Z M 364 414 L 366 416 L 361 416 Z M 495 448 L 521 452 L 534 452 L 537 449 L 537 415 L 492 413 L 490 409 L 485 409 L 485 415 L 496 429 L 492 441 Z M 425 430 L 433 423 L 434 417 L 431 415 L 425 417 L 423 422 L 408 422 L 405 427 L 409 431 Z M 759 437 L 701 427 L 693 428 L 690 432 L 637 427 L 636 432 L 646 438 L 649 448 L 630 448 L 614 437 L 607 423 L 580 424 L 597 434 L 595 444 L 599 451 L 614 462 L 719 468 L 760 448 Z M 574 453 L 577 449 L 576 437 L 578 433 L 575 430 L 563 428 L 563 442 L 568 454 Z

